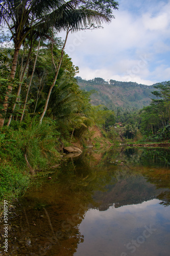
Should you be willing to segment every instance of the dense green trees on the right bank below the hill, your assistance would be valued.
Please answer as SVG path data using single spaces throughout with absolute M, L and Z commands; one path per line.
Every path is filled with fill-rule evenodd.
M 141 110 L 124 110 L 116 108 L 116 122 L 123 124 L 123 135 L 134 138 L 140 131 L 143 141 L 169 140 L 170 136 L 170 82 L 162 82 L 153 86 L 153 99 L 149 106 Z

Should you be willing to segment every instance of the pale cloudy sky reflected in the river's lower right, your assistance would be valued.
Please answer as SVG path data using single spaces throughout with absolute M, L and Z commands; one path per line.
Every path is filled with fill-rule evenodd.
M 106 211 L 89 209 L 80 224 L 84 243 L 74 255 L 170 255 L 170 207 L 160 202 L 153 199 L 119 208 L 110 206 Z

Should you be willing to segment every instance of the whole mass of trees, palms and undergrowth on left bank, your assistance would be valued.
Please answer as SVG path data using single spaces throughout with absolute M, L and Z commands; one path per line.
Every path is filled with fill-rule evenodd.
M 1 198 L 25 190 L 29 172 L 55 165 L 62 147 L 94 124 L 90 93 L 79 88 L 64 48 L 69 31 L 100 28 L 117 7 L 113 0 L 0 3 Z

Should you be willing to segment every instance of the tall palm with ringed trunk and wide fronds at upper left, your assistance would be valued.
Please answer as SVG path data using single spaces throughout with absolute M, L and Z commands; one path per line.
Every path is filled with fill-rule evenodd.
M 48 31 L 54 27 L 56 31 L 67 29 L 78 30 L 89 23 L 109 22 L 110 19 L 96 11 L 76 9 L 80 1 L 70 0 L 4 0 L 0 3 L 0 22 L 8 26 L 14 41 L 14 57 L 10 73 L 15 77 L 19 49 L 31 31 Z M 4 102 L 4 114 L 8 109 L 8 99 L 12 92 L 12 81 L 8 84 Z M 0 116 L 0 126 L 5 118 Z

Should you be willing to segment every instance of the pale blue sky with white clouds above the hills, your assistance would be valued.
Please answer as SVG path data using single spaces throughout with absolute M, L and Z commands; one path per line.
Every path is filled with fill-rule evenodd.
M 69 35 L 65 52 L 78 76 L 148 85 L 170 80 L 170 0 L 117 1 L 104 29 Z

